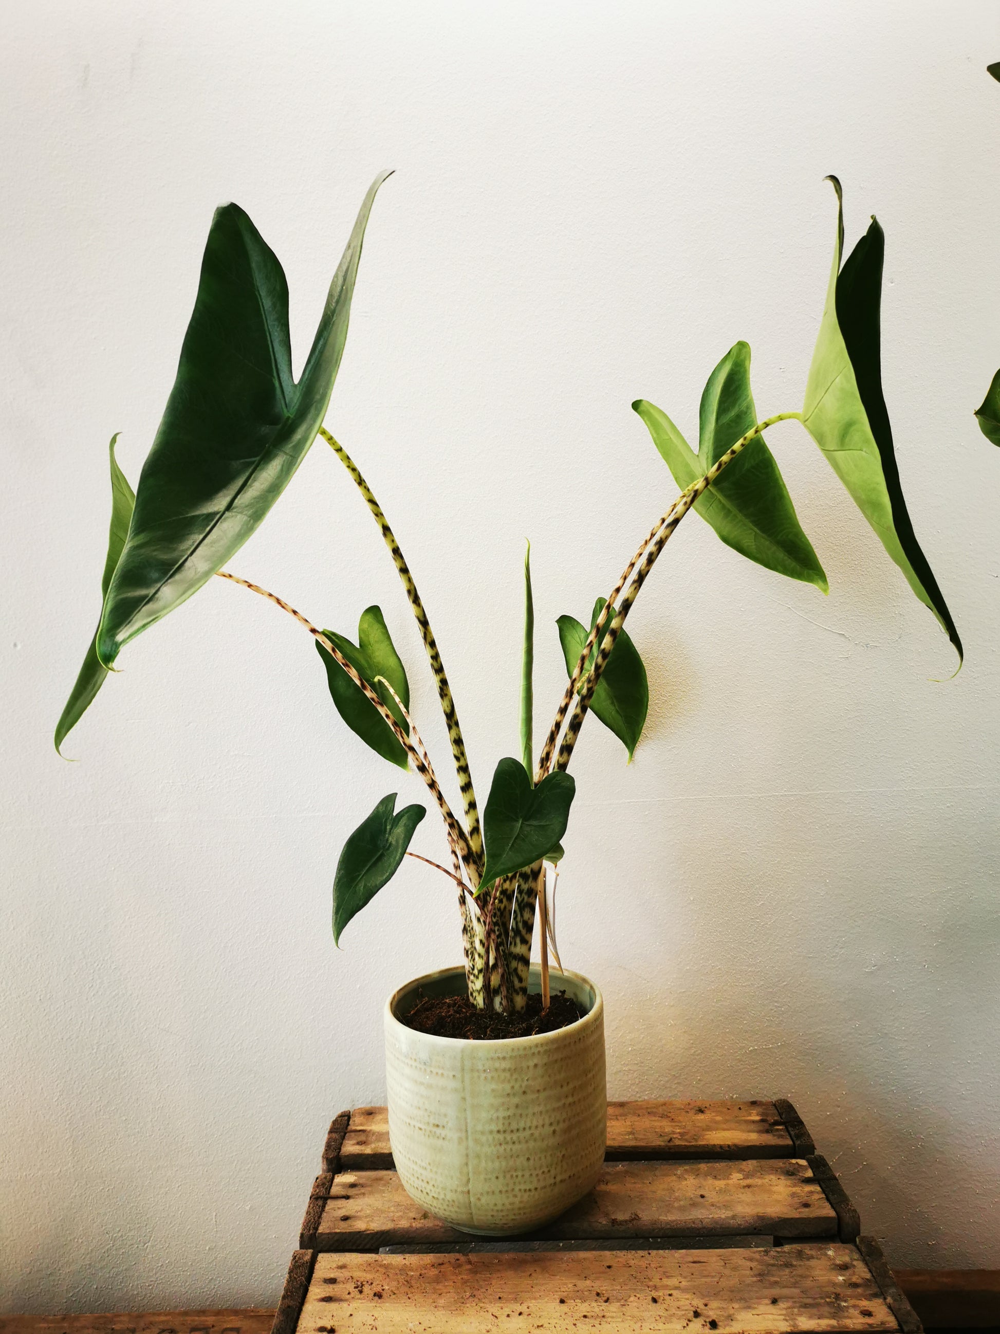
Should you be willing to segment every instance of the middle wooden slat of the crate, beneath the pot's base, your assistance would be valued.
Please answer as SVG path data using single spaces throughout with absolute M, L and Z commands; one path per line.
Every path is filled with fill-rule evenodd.
M 548 1238 L 757 1234 L 835 1238 L 837 1215 L 808 1163 L 785 1158 L 745 1162 L 607 1163 L 593 1191 L 548 1227 Z M 467 1239 L 416 1205 L 395 1171 L 340 1173 L 313 1235 L 316 1250 Z

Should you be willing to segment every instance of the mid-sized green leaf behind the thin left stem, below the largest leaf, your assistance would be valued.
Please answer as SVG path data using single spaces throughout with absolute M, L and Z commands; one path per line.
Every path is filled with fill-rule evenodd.
M 352 644 L 349 639 L 339 635 L 335 630 L 324 630 L 323 634 L 337 646 L 359 676 L 368 682 L 372 690 L 376 691 L 403 731 L 409 732 L 409 724 L 403 716 L 403 710 L 392 698 L 392 691 L 385 687 L 385 682 L 376 679 L 384 676 L 403 700 L 404 707 L 409 708 L 407 671 L 389 638 L 381 610 L 379 607 L 367 607 L 361 612 L 361 619 L 357 623 L 356 644 Z M 327 668 L 327 683 L 333 696 L 333 703 L 347 726 L 367 746 L 377 751 L 383 759 L 399 764 L 400 768 L 407 768 L 407 751 L 379 710 L 369 699 L 365 699 L 364 694 L 355 686 L 340 663 L 327 652 L 319 639 L 315 639 L 313 643 Z

